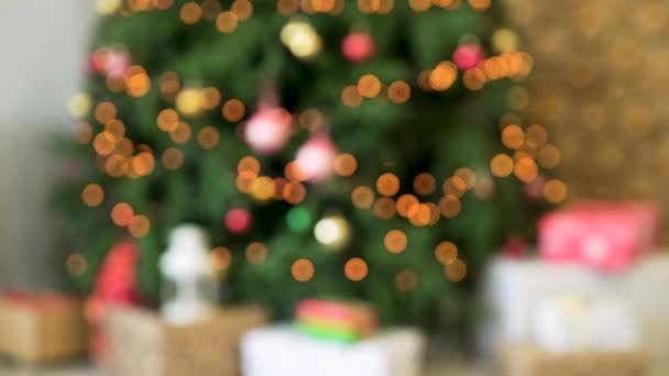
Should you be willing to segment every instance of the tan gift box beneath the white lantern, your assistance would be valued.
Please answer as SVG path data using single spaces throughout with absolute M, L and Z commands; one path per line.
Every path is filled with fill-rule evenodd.
M 263 309 L 235 307 L 172 325 L 153 311 L 114 308 L 106 323 L 107 368 L 112 376 L 237 376 L 240 339 L 267 318 Z

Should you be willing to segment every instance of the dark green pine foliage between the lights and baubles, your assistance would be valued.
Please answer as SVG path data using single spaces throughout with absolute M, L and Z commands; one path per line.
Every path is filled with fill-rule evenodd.
M 211 0 L 207 2 L 211 4 Z M 494 55 L 491 35 L 504 25 L 502 10 L 496 1 L 485 11 L 456 1 L 459 5 L 450 9 L 432 5 L 416 12 L 408 1 L 396 0 L 390 13 L 368 14 L 359 9 L 358 1 L 344 2 L 339 14 L 283 15 L 274 0 L 252 1 L 252 16 L 226 34 L 217 30 L 213 19 L 184 23 L 179 16 L 184 0 L 175 0 L 164 10 L 125 10 L 100 19 L 91 53 L 98 48 L 125 51 L 133 65 L 145 69 L 151 87 L 134 98 L 127 91 L 111 90 L 105 75 L 89 73 L 85 91 L 92 98 L 92 106 L 81 121 L 88 122 L 92 135 L 97 135 L 105 124 L 96 121 L 96 106 L 113 103 L 116 118 L 125 124 L 125 137 L 134 144 L 134 155 L 140 145 L 147 145 L 155 168 L 140 178 L 112 177 L 100 168 L 106 157 L 97 156 L 92 143 L 59 139 L 57 151 L 72 172 L 53 198 L 58 241 L 63 250 L 75 250 L 88 261 L 85 273 L 70 276 L 74 288 L 89 291 L 105 253 L 119 240 L 130 237 L 128 229 L 116 225 L 110 218 L 116 203 L 128 202 L 151 222 L 149 234 L 136 240 L 141 247 L 139 283 L 149 301 L 160 296 L 157 257 L 166 247 L 171 229 L 197 223 L 208 231 L 212 246 L 232 252 L 232 264 L 222 278 L 227 301 L 261 301 L 270 305 L 277 318 L 290 317 L 299 299 L 312 296 L 368 300 L 379 309 L 384 323 L 450 328 L 473 317 L 471 291 L 483 263 L 509 235 L 525 235 L 533 218 L 527 213 L 538 209 L 528 202 L 516 177 L 496 178 L 490 170 L 494 155 L 509 153 L 501 143 L 500 119 L 513 110 L 507 98 L 517 82 L 504 78 L 471 90 L 463 85 L 460 70 L 452 87 L 434 91 L 421 89 L 418 76 L 450 59 L 463 41 L 475 40 L 486 55 Z M 221 10 L 230 9 L 231 1 L 219 3 Z M 312 59 L 299 59 L 282 44 L 282 27 L 293 20 L 308 22 L 320 35 L 322 49 Z M 368 32 L 374 40 L 375 53 L 368 62 L 354 64 L 342 56 L 341 42 L 353 30 Z M 197 115 L 182 113 L 193 136 L 185 144 L 176 144 L 156 125 L 160 111 L 177 109 L 174 98 L 161 93 L 161 77 L 169 71 L 178 75 L 182 88 L 216 87 L 222 95 L 221 103 L 240 99 L 246 107 L 244 119 L 239 124 L 227 121 L 220 104 Z M 379 77 L 386 88 L 396 80 L 408 82 L 409 101 L 394 103 L 382 91 L 359 107 L 344 106 L 342 89 L 366 74 Z M 274 155 L 254 152 L 240 137 L 238 126 L 256 110 L 267 88 L 275 89 L 278 104 L 290 113 L 319 110 L 339 152 L 355 156 L 355 174 L 333 175 L 322 184 L 306 183 L 306 199 L 297 206 L 283 200 L 260 202 L 241 192 L 235 187 L 240 158 L 254 156 L 262 165 L 262 175 L 281 177 L 284 166 L 309 137 L 308 130 L 296 128 L 287 145 Z M 196 135 L 209 125 L 218 130 L 220 142 L 205 150 Z M 184 164 L 176 170 L 161 163 L 169 147 L 184 154 Z M 399 214 L 383 220 L 373 208 L 357 209 L 351 203 L 355 187 L 374 189 L 384 173 L 401 179 L 394 199 L 414 193 L 414 177 L 425 172 L 437 178 L 437 190 L 418 197 L 423 202 L 438 203 L 443 197 L 441 183 L 461 167 L 475 172 L 479 183 L 494 187 L 489 186 L 492 190 L 481 195 L 475 193 L 476 189 L 468 190 L 461 197 L 460 213 L 442 217 L 432 225 L 417 226 Z M 100 206 L 83 203 L 81 191 L 88 184 L 103 188 Z M 223 218 L 232 208 L 252 212 L 249 232 L 234 235 L 227 231 Z M 352 229 L 349 245 L 340 250 L 328 248 L 314 236 L 315 223 L 332 213 L 342 215 Z M 384 236 L 391 230 L 406 233 L 408 246 L 404 252 L 393 254 L 385 248 Z M 468 266 L 463 281 L 449 281 L 445 265 L 435 257 L 436 245 L 443 241 L 458 245 L 459 258 Z M 266 245 L 264 263 L 255 265 L 245 259 L 244 248 L 251 242 Z M 303 257 L 315 266 L 308 281 L 297 281 L 290 273 L 293 263 Z M 348 279 L 343 273 L 352 257 L 361 257 L 369 265 L 369 274 L 360 281 Z M 396 281 L 397 274 L 405 269 L 417 277 L 415 286 L 409 280 L 409 288 L 405 288 L 408 291 L 399 289 Z

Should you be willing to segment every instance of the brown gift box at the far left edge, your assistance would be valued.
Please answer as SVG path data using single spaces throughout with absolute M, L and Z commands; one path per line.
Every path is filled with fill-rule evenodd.
M 0 354 L 25 364 L 67 361 L 86 353 L 81 302 L 56 294 L 0 296 Z

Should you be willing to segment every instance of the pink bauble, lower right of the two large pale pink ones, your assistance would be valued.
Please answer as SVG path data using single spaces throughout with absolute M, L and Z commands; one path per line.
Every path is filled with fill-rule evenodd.
M 320 183 L 330 176 L 337 147 L 328 136 L 311 137 L 297 151 L 295 162 L 300 174 L 312 183 Z

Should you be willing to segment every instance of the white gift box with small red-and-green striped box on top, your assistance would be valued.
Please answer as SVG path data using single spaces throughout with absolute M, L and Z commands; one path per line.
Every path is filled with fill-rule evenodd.
M 294 325 L 265 327 L 242 340 L 245 376 L 419 376 L 426 339 L 416 329 L 382 331 L 352 344 L 307 336 Z

